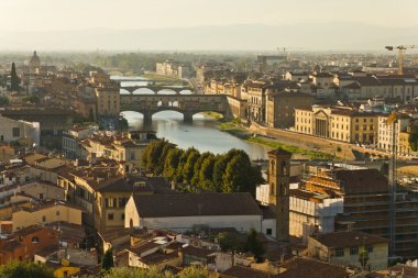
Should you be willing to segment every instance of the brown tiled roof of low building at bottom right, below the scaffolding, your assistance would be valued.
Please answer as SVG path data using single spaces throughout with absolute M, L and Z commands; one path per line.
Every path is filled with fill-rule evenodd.
M 363 244 L 373 245 L 380 243 L 388 243 L 388 240 L 385 237 L 366 234 L 360 231 L 317 234 L 312 235 L 311 237 L 329 248 L 343 248 L 351 246 L 361 246 Z

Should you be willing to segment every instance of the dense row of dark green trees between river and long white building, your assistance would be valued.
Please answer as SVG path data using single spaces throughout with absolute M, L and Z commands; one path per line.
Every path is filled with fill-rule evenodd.
M 242 149 L 227 154 L 182 149 L 167 141 L 153 141 L 144 151 L 142 167 L 155 176 L 165 176 L 185 191 L 255 192 L 263 182 L 260 167 L 251 165 Z

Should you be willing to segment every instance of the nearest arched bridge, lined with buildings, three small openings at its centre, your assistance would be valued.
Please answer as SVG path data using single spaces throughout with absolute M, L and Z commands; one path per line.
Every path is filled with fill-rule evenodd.
M 185 122 L 193 122 L 193 115 L 200 112 L 217 112 L 226 119 L 233 118 L 227 96 L 223 94 L 121 94 L 120 111 L 135 111 L 144 115 L 144 123 L 152 122 L 152 115 L 161 111 L 183 113 Z

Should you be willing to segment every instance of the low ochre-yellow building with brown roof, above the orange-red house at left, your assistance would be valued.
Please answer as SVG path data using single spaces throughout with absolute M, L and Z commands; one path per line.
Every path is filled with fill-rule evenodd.
M 53 222 L 66 222 L 81 225 L 81 210 L 77 207 L 62 202 L 45 202 L 32 208 L 21 208 L 12 213 L 13 232 L 23 227 L 50 224 Z

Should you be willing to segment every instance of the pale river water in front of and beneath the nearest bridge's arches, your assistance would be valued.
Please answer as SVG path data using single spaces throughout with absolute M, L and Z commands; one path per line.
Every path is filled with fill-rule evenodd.
M 131 130 L 143 130 L 141 113 L 122 112 Z M 160 138 L 166 138 L 182 148 L 195 147 L 199 152 L 226 153 L 231 148 L 245 151 L 251 159 L 267 158 L 267 147 L 246 143 L 216 127 L 216 120 L 204 114 L 194 115 L 193 124 L 183 122 L 183 114 L 163 111 L 153 115 L 152 130 Z

